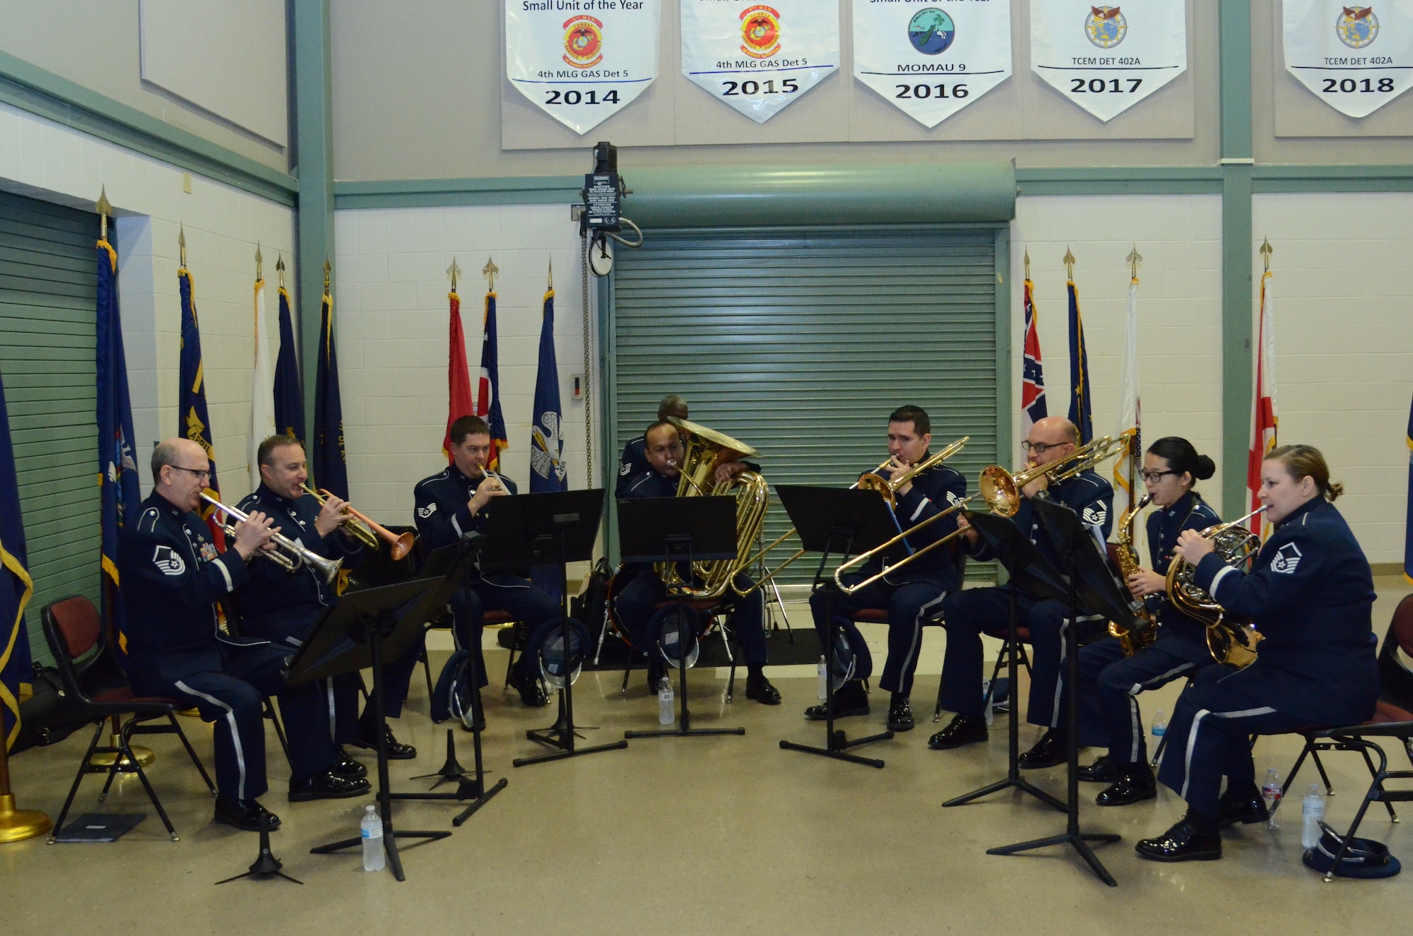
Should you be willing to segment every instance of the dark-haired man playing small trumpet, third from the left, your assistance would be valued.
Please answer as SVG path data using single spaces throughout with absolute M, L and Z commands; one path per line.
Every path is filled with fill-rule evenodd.
M 428 550 L 449 546 L 468 533 L 486 532 L 486 510 L 495 498 L 516 492 L 509 478 L 489 472 L 490 428 L 479 416 L 462 416 L 451 424 L 452 465 L 417 484 L 417 530 Z M 510 684 L 526 706 L 544 706 L 538 660 L 545 639 L 564 621 L 560 602 L 534 587 L 528 578 L 509 571 L 482 574 L 472 568 L 465 587 L 452 592 L 452 633 L 456 646 L 471 653 L 475 683 L 479 691 L 486 684 L 486 665 L 480 652 L 482 616 L 486 611 L 509 612 L 527 626 L 524 652 L 510 670 Z M 569 626 L 579 632 L 581 646 L 588 646 L 584 625 L 569 618 Z M 478 710 L 485 708 L 478 706 Z

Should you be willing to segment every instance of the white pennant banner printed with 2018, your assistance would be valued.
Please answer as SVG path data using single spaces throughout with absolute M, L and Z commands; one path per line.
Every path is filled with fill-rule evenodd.
M 1413 0 L 1284 0 L 1286 71 L 1320 100 L 1366 117 L 1409 88 Z

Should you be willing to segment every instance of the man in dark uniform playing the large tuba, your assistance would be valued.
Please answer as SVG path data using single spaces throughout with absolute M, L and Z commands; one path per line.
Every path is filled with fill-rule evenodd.
M 625 498 L 673 498 L 677 495 L 678 475 L 682 464 L 682 441 L 677 427 L 667 421 L 657 421 L 647 427 L 643 434 L 647 440 L 649 469 L 632 478 Z M 742 462 L 735 462 L 742 464 Z M 718 471 L 721 471 L 718 465 Z M 629 584 L 619 592 L 615 611 L 619 621 L 629 632 L 633 646 L 646 652 L 654 643 L 650 633 L 654 621 L 654 605 L 667 598 L 667 588 L 657 575 L 653 566 L 623 566 L 619 575 L 629 580 Z M 685 573 L 684 573 L 685 575 Z M 699 584 L 699 583 L 698 583 Z M 735 580 L 736 588 L 746 591 L 755 583 L 745 573 L 739 573 Z M 732 608 L 729 626 L 740 640 L 746 656 L 746 698 L 753 698 L 766 706 L 779 706 L 780 693 L 770 680 L 766 679 L 766 631 L 764 631 L 764 597 L 756 588 L 745 598 L 728 590 L 722 602 Z M 650 693 L 657 693 L 657 681 L 664 672 L 664 663 L 658 655 L 649 655 Z

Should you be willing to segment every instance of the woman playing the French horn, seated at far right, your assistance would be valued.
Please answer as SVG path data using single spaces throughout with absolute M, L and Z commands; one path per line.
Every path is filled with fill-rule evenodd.
M 1259 496 L 1275 529 L 1251 573 L 1222 561 L 1195 530 L 1178 536 L 1177 554 L 1197 566 L 1194 583 L 1226 614 L 1252 619 L 1265 639 L 1255 663 L 1217 681 L 1204 673 L 1178 698 L 1157 779 L 1187 800 L 1187 814 L 1139 841 L 1140 857 L 1217 860 L 1221 829 L 1266 819 L 1252 734 L 1359 724 L 1373 714 L 1373 575 L 1331 503 L 1342 492 L 1320 450 L 1283 445 L 1260 465 Z

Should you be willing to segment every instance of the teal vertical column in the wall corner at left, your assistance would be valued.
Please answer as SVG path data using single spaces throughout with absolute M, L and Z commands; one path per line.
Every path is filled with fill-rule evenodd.
M 314 434 L 324 262 L 333 262 L 333 105 L 328 0 L 294 0 L 294 139 L 300 178 L 298 305 L 304 419 Z M 338 297 L 335 297 L 336 300 Z M 338 308 L 338 305 L 335 305 Z

